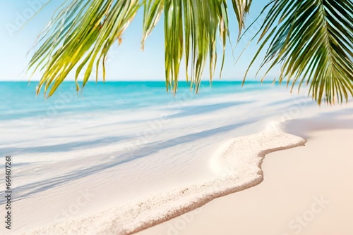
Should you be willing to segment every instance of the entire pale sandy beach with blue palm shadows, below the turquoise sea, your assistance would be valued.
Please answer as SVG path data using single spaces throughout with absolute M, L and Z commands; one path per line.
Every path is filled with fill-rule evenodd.
M 45 131 L 22 120 L 24 135 L 12 148 L 27 152 L 14 158 L 22 164 L 11 234 L 350 234 L 352 104 L 319 108 L 306 98 L 278 101 L 287 91 L 265 92 L 267 99 L 249 93 L 139 111 L 133 122 L 129 113 L 90 116 L 104 126 L 69 117 L 79 134 L 66 134 L 59 118 Z M 141 132 L 166 110 L 172 118 L 136 148 L 113 136 Z M 2 128 L 11 136 L 18 127 Z M 109 142 L 90 146 L 90 136 Z M 80 142 L 85 148 L 72 146 Z M 330 201 L 320 215 L 317 201 Z M 312 221 L 298 225 L 301 215 Z

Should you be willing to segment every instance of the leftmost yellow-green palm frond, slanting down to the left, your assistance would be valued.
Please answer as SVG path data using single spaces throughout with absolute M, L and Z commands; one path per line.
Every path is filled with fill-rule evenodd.
M 78 75 L 83 68 L 83 87 L 94 66 L 97 77 L 100 63 L 104 79 L 107 53 L 121 39 L 138 8 L 138 0 L 72 0 L 62 7 L 42 33 L 41 46 L 29 64 L 33 73 L 44 71 L 37 94 L 44 86 L 44 96 L 47 91 L 47 96 L 51 96 L 74 68 L 77 89 Z

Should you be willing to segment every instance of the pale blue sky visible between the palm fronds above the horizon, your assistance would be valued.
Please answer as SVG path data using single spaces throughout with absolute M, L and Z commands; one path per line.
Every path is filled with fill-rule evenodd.
M 40 13 L 33 18 L 31 16 L 39 8 L 44 6 L 48 0 L 0 0 L 0 81 L 27 81 L 29 75 L 25 75 L 25 69 L 30 56 L 26 57 L 27 52 L 41 32 L 44 26 L 49 22 L 52 14 L 64 0 L 50 1 Z M 261 12 L 267 1 L 253 1 L 251 15 L 248 17 L 248 24 L 256 18 Z M 107 80 L 164 80 L 164 35 L 162 20 L 152 32 L 145 44 L 145 51 L 140 50 L 140 39 L 142 35 L 142 12 L 136 15 L 135 20 L 124 33 L 123 44 L 114 46 L 110 55 L 111 60 L 107 64 Z M 30 19 L 28 21 L 28 19 Z M 231 22 L 232 44 L 236 44 L 237 23 L 232 11 L 232 5 L 229 2 L 229 20 Z M 28 21 L 28 23 L 25 23 Z M 25 23 L 25 25 L 24 25 Z M 240 51 L 246 46 L 247 39 L 252 36 L 254 30 L 251 30 L 246 39 L 242 40 L 234 52 L 237 58 Z M 221 49 L 221 45 L 219 45 Z M 256 44 L 252 44 L 247 49 L 241 60 L 234 66 L 232 48 L 230 44 L 227 47 L 225 68 L 222 74 L 222 80 L 242 80 L 244 72 L 249 65 L 252 56 L 256 52 Z M 253 79 L 257 72 L 256 63 L 249 79 Z M 184 68 L 181 68 L 181 77 L 184 79 Z M 204 72 L 204 79 L 209 77 L 208 70 Z M 271 75 L 268 76 L 272 80 Z M 72 80 L 68 77 L 68 80 Z M 260 78 L 258 78 L 260 79 Z M 40 74 L 36 74 L 32 80 L 40 80 Z

